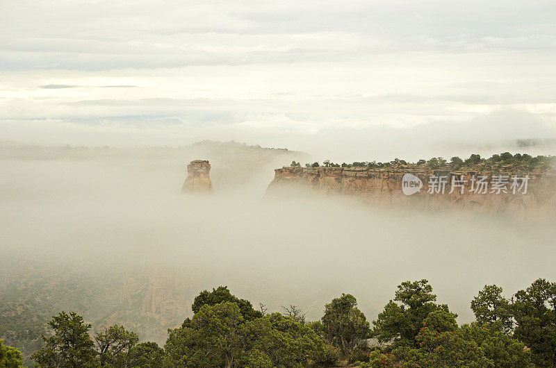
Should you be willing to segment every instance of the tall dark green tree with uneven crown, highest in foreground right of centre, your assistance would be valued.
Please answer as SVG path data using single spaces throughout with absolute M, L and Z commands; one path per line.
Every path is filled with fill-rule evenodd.
M 401 283 L 394 300 L 389 301 L 377 320 L 373 321 L 373 335 L 379 342 L 393 341 L 396 345 L 418 346 L 416 337 L 429 314 L 437 310 L 450 312 L 448 306 L 434 301 L 436 295 L 432 294 L 432 286 L 427 280 Z M 454 319 L 457 317 L 450 314 Z

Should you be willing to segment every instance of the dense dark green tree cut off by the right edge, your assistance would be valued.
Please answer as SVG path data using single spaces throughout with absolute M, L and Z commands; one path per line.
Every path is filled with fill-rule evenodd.
M 543 278 L 514 295 L 514 337 L 527 345 L 537 365 L 556 365 L 556 283 Z

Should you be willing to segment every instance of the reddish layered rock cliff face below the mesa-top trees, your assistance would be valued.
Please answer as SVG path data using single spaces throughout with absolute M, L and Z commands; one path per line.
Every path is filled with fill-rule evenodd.
M 404 175 L 407 175 L 404 181 Z M 420 190 L 407 190 L 419 181 Z M 453 181 L 453 182 L 452 182 Z M 480 181 L 480 183 L 479 183 Z M 452 190 L 452 183 L 454 188 Z M 486 183 L 486 186 L 484 185 Z M 416 185 L 416 184 L 414 184 Z M 456 172 L 420 167 L 282 167 L 267 189 L 279 194 L 348 195 L 375 206 L 420 210 L 465 210 L 521 218 L 554 217 L 556 176 L 550 173 Z

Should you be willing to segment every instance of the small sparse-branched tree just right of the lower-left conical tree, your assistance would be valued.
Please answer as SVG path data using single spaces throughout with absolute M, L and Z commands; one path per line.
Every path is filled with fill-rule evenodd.
M 131 349 L 137 344 L 136 333 L 126 331 L 123 326 L 110 326 L 95 335 L 101 367 L 129 367 Z

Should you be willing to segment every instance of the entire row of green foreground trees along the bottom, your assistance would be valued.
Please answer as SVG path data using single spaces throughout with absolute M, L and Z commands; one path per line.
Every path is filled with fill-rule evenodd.
M 283 307 L 284 308 L 284 307 Z M 204 290 L 194 315 L 168 330 L 163 348 L 110 326 L 90 335 L 83 317 L 60 312 L 31 357 L 38 367 L 534 367 L 556 365 L 556 283 L 534 281 L 508 300 L 486 285 L 471 301 L 476 321 L 458 326 L 436 303 L 427 280 L 398 285 L 373 321 L 342 294 L 319 321 L 297 306 L 267 313 L 225 286 Z M 17 349 L 1 346 L 0 366 L 19 367 Z

